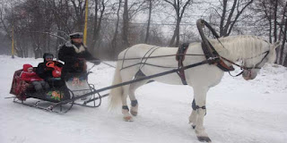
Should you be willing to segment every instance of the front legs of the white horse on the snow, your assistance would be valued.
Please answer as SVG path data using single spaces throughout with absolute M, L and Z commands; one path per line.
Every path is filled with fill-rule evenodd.
M 212 140 L 208 137 L 204 130 L 204 115 L 206 113 L 206 93 L 208 88 L 194 87 L 196 111 L 191 113 L 192 122 L 196 122 L 196 136 L 199 141 L 211 142 Z M 196 117 L 197 116 L 197 117 Z

